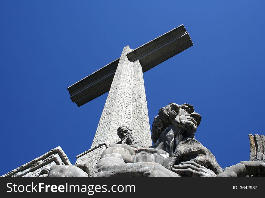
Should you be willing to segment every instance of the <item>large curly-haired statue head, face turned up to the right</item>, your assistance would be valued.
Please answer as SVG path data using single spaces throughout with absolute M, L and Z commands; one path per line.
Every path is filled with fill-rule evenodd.
M 156 143 L 160 134 L 169 126 L 174 126 L 178 130 L 176 133 L 184 138 L 194 137 L 200 122 L 201 115 L 194 111 L 192 105 L 170 103 L 161 108 L 154 118 L 151 138 Z

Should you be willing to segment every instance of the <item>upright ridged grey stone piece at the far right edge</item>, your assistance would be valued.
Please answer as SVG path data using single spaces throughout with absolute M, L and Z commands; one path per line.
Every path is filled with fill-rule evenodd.
M 250 143 L 250 161 L 265 162 L 265 136 L 252 134 L 248 135 Z

